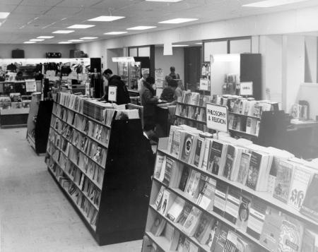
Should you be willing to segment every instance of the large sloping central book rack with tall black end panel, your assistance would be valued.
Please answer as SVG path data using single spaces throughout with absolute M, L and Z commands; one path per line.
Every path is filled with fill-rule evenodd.
M 49 130 L 48 171 L 100 245 L 141 239 L 146 224 L 151 172 L 141 121 L 119 114 L 59 93 Z

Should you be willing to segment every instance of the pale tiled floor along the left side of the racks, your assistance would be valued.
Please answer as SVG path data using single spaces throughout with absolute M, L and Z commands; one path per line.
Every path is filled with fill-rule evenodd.
M 0 129 L 0 251 L 140 252 L 141 241 L 98 246 L 25 132 Z

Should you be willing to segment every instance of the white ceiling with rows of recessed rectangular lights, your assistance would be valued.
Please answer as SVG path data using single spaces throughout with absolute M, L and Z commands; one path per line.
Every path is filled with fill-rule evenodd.
M 317 6 L 317 0 L 288 4 L 273 8 L 247 8 L 242 4 L 259 0 L 183 0 L 177 3 L 160 3 L 145 0 L 0 0 L 0 11 L 11 12 L 2 20 L 0 44 L 20 44 L 38 36 L 52 35 L 54 30 L 66 29 L 74 24 L 94 24 L 94 28 L 78 29 L 66 35 L 54 34 L 45 44 L 54 44 L 80 37 L 126 36 L 142 32 L 167 30 L 195 23 L 206 23 L 242 16 L 253 16 L 290 9 Z M 125 16 L 113 22 L 90 22 L 98 16 Z M 159 24 L 172 18 L 199 18 L 179 25 Z M 129 31 L 128 34 L 110 36 L 105 32 L 126 31 L 137 25 L 154 25 L 155 29 Z M 189 39 L 191 34 L 189 34 Z

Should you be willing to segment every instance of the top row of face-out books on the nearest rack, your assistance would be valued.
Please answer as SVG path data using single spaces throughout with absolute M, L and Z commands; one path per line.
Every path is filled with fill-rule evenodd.
M 233 181 L 240 188 L 268 192 L 269 196 L 278 198 L 318 222 L 318 211 L 310 205 L 317 194 L 312 191 L 318 183 L 315 179 L 318 174 L 316 160 L 306 162 L 285 150 L 264 148 L 243 138 L 237 140 L 220 135 L 216 139 L 206 136 L 196 128 L 171 126 L 166 152 L 214 177 L 226 179 L 229 184 Z M 174 176 L 180 179 L 181 172 L 171 169 L 167 157 L 162 156 L 158 155 L 155 178 L 163 181 L 165 169 L 168 169 L 176 174 L 170 172 L 172 180 Z M 197 173 L 194 178 L 199 184 Z

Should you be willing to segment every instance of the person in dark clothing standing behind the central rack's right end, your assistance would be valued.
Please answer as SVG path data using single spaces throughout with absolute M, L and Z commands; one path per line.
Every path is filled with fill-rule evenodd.
M 158 97 L 155 96 L 155 90 L 153 84 L 155 78 L 148 77 L 143 81 L 141 87 L 140 97 L 141 105 L 143 106 L 143 122 L 144 124 L 153 124 L 155 121 L 155 104 L 158 103 Z

